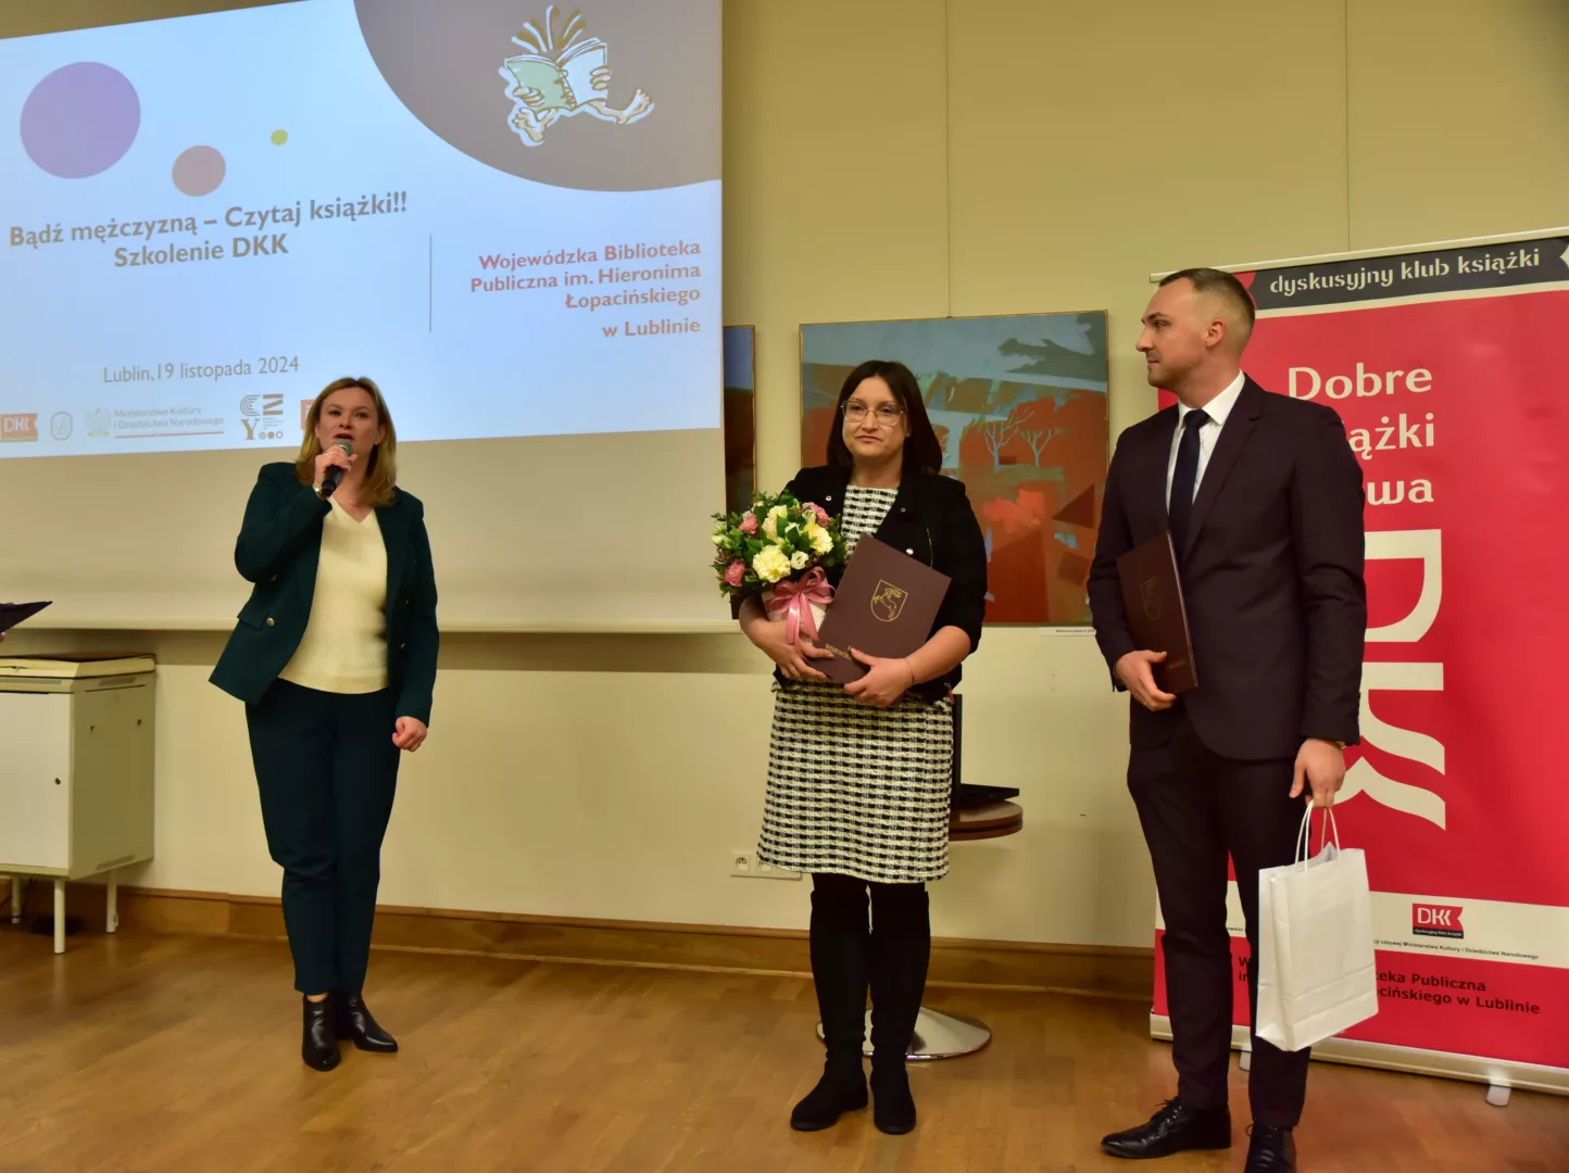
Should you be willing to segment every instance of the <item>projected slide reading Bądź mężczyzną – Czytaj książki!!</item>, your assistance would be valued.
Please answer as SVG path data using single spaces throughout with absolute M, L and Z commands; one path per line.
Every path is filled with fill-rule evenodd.
M 719 8 L 0 41 L 0 458 L 293 448 L 342 375 L 403 442 L 717 430 Z

